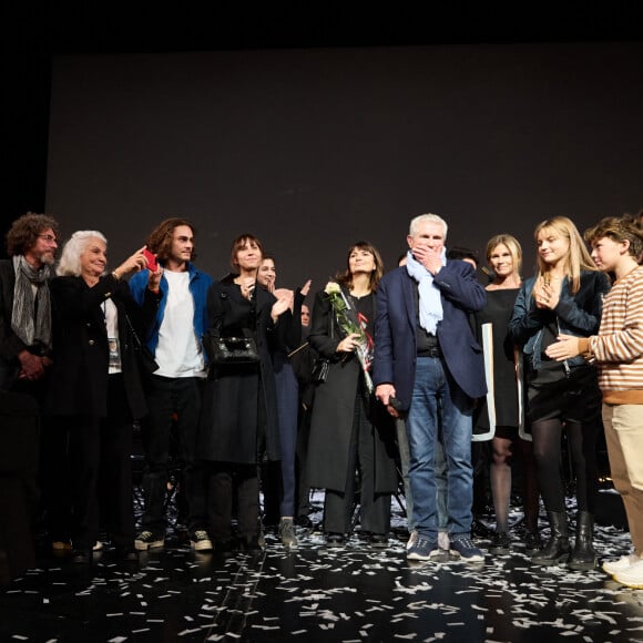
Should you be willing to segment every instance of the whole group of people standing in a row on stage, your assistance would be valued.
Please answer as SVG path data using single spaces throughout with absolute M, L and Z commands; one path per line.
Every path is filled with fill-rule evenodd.
M 0 389 L 40 405 L 52 545 L 72 549 L 75 562 L 91 561 L 100 529 L 123 560 L 164 545 L 173 451 L 195 551 L 261 551 L 262 490 L 264 521 L 296 549 L 309 488 L 325 490 L 328 547 L 343 547 L 359 520 L 370 545 L 386 548 L 401 470 L 407 558 L 481 562 L 472 440 L 490 440 L 489 551 L 512 547 L 516 452 L 532 563 L 589 570 L 604 427 L 634 549 L 603 568 L 643 585 L 641 221 L 602 220 L 585 232 L 591 254 L 572 221 L 543 221 L 537 273 L 525 279 L 518 239 L 496 235 L 486 285 L 474 253 L 447 253 L 447 229 L 438 215 L 415 217 L 408 252 L 386 274 L 377 248 L 355 243 L 310 314 L 310 282 L 278 288 L 275 258 L 252 234 L 234 239 L 232 272 L 213 280 L 194 265 L 195 229 L 184 218 L 163 221 L 114 269 L 98 231 L 72 234 L 54 268 L 58 223 L 18 218 L 7 234 L 11 258 L 0 262 Z M 139 531 L 136 420 L 145 453 Z

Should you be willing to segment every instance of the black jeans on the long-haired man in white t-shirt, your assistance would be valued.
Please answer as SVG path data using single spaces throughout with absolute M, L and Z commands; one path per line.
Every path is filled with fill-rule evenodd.
M 203 380 L 197 377 L 153 375 L 149 384 L 150 415 L 143 425 L 145 512 L 142 528 L 155 534 L 164 534 L 166 529 L 165 499 L 171 451 L 174 451 L 177 466 L 183 470 L 188 528 L 194 531 L 207 525 L 205 473 L 196 459 L 202 392 Z M 174 450 L 171 449 L 173 422 L 176 422 L 178 438 Z

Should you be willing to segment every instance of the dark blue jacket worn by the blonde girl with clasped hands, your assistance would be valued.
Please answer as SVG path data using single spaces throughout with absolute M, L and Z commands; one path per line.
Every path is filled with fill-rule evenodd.
M 535 277 L 530 277 L 522 283 L 513 315 L 509 322 L 509 331 L 533 368 L 540 367 L 542 355 L 543 328 L 550 310 L 541 310 L 535 307 L 532 296 Z M 589 337 L 599 331 L 601 313 L 603 310 L 603 296 L 610 289 L 610 280 L 604 273 L 599 271 L 583 271 L 581 273 L 581 287 L 575 294 L 571 293 L 568 277 L 561 286 L 560 300 L 554 308 L 558 331 L 574 337 Z M 567 366 L 580 366 L 584 364 L 581 356 L 565 360 Z

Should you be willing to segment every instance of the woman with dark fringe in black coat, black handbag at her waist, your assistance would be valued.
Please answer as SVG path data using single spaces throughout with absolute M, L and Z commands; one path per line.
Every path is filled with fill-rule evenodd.
M 258 363 L 217 365 L 211 361 L 200 422 L 200 453 L 211 463 L 212 538 L 215 549 L 233 547 L 233 490 L 237 497 L 239 547 L 257 552 L 262 459 L 279 459 L 277 395 L 271 351 L 287 324 L 289 297 L 277 299 L 256 286 L 263 258 L 261 242 L 245 234 L 233 242 L 231 261 L 238 274 L 215 282 L 207 293 L 210 333 L 255 339 Z

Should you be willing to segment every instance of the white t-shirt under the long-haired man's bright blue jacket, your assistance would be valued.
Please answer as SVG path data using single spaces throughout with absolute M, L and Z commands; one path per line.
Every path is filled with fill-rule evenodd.
M 164 271 L 167 300 L 159 329 L 154 375 L 163 377 L 205 377 L 201 344 L 194 333 L 194 299 L 190 292 L 190 273 Z

